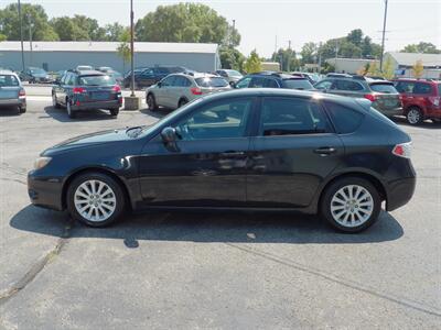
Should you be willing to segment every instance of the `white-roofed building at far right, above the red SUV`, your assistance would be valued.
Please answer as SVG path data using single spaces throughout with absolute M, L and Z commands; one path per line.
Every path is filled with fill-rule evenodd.
M 421 61 L 424 67 L 421 78 L 441 78 L 441 54 L 389 52 L 385 54 L 385 62 L 388 59 L 392 62 L 397 77 L 413 77 L 412 66 Z

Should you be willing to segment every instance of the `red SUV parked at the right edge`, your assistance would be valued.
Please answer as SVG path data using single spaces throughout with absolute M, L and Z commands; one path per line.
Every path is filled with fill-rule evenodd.
M 394 82 L 401 95 L 408 123 L 417 125 L 424 119 L 441 122 L 440 80 L 397 79 Z

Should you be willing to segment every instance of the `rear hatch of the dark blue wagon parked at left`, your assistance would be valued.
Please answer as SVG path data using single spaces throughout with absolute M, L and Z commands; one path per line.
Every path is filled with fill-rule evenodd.
M 115 78 L 107 75 L 79 76 L 77 90 L 82 102 L 103 102 L 118 100 L 121 95 Z

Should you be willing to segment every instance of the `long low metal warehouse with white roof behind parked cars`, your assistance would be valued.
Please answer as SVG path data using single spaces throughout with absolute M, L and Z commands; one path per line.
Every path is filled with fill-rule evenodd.
M 110 66 L 128 70 L 118 56 L 118 42 L 24 42 L 25 66 L 50 72 L 75 68 L 77 65 Z M 217 44 L 135 43 L 135 66 L 179 65 L 198 72 L 220 67 Z M 0 67 L 21 70 L 20 42 L 0 42 Z

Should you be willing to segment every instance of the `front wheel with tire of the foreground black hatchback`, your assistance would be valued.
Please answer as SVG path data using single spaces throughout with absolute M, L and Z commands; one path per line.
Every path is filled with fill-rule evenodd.
M 119 184 L 101 173 L 85 173 L 67 188 L 67 210 L 72 218 L 89 227 L 106 227 L 125 210 Z

